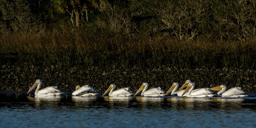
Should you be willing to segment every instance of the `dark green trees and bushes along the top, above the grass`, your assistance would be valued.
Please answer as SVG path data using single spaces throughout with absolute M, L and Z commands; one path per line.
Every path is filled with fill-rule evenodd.
M 254 0 L 13 0 L 1 2 L 0 26 L 1 31 L 38 31 L 42 26 L 56 29 L 76 24 L 88 28 L 94 24 L 97 29 L 124 33 L 129 38 L 168 35 L 184 41 L 209 38 L 244 42 L 256 35 L 255 17 Z

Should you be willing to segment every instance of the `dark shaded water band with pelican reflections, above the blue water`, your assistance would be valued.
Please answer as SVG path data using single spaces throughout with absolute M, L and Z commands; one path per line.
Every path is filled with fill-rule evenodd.
M 32 108 L 67 106 L 70 108 L 193 108 L 193 109 L 252 109 L 256 98 L 184 98 L 184 97 L 38 97 L 24 93 L 0 93 L 0 108 L 23 104 Z

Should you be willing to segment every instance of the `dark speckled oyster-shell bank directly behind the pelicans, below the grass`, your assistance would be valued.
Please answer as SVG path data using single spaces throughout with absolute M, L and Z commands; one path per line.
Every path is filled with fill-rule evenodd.
M 1 65 L 1 91 L 26 91 L 36 79 L 42 79 L 42 88 L 58 86 L 65 91 L 74 91 L 77 84 L 88 84 L 97 91 L 104 91 L 109 84 L 115 83 L 117 88 L 129 87 L 135 92 L 143 82 L 147 82 L 150 88 L 161 86 L 166 91 L 172 83 L 183 84 L 187 79 L 191 79 L 196 88 L 225 84 L 228 88 L 241 86 L 245 92 L 256 90 L 256 70 L 243 68 Z

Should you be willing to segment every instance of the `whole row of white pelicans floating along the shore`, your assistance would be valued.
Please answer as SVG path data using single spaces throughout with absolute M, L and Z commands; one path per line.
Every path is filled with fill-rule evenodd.
M 58 90 L 56 86 L 49 86 L 40 90 L 42 85 L 41 79 L 36 79 L 36 82 L 33 84 L 31 88 L 29 88 L 29 92 L 31 92 L 36 86 L 35 96 L 60 96 L 63 95 L 63 92 Z M 143 97 L 248 97 L 246 93 L 241 90 L 241 87 L 230 88 L 226 91 L 227 86 L 220 85 L 214 88 L 197 88 L 195 89 L 195 83 L 192 83 L 191 80 L 186 80 L 184 84 L 179 88 L 179 83 L 173 83 L 169 90 L 166 93 L 158 88 L 150 88 L 148 89 L 148 83 L 141 84 L 140 88 L 136 91 L 136 93 L 132 93 L 129 88 L 120 88 L 115 90 L 116 85 L 110 84 L 109 88 L 103 93 L 102 96 L 107 95 L 109 97 L 131 97 L 131 96 L 140 96 Z M 179 90 L 178 90 L 179 88 Z M 183 90 L 186 88 L 185 90 Z M 148 89 L 148 90 L 147 90 Z M 194 90 L 195 89 L 195 90 Z M 214 93 L 217 92 L 217 93 Z M 28 94 L 27 93 L 27 94 Z M 72 92 L 72 96 L 79 97 L 88 97 L 88 96 L 98 96 L 100 92 L 94 90 L 91 86 L 76 86 L 76 90 Z

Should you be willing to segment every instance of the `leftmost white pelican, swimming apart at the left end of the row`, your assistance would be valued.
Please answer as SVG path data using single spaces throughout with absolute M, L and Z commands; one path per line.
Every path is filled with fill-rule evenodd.
M 35 96 L 58 96 L 63 94 L 62 92 L 60 92 L 60 90 L 58 90 L 57 86 L 48 86 L 46 88 L 43 88 L 42 90 L 39 90 L 41 84 L 42 80 L 36 79 L 35 84 L 33 84 L 33 86 L 28 90 L 28 93 L 37 86 Z

